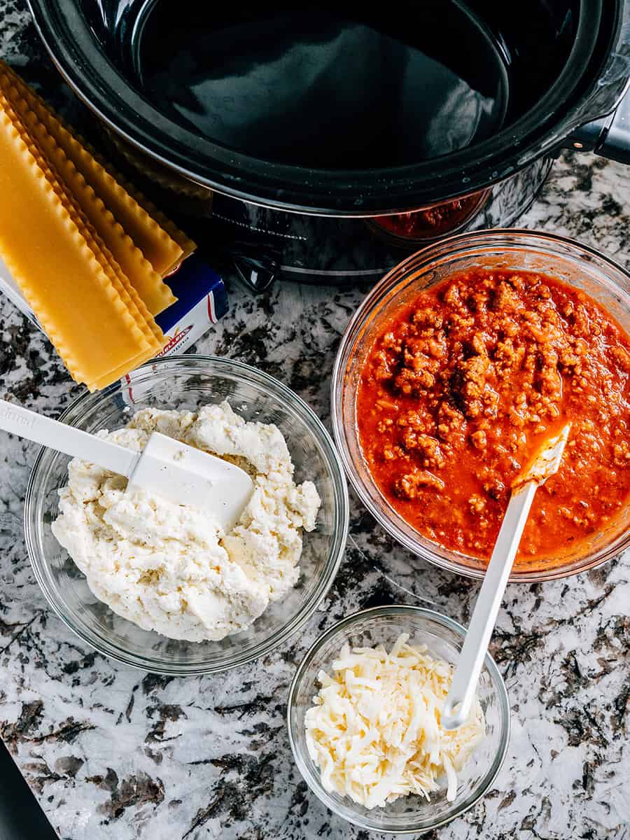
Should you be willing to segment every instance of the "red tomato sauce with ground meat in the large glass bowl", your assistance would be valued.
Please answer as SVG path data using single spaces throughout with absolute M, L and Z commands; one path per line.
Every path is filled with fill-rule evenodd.
M 584 292 L 473 269 L 424 291 L 381 330 L 357 396 L 360 444 L 407 522 L 487 559 L 512 480 L 571 421 L 517 556 L 553 565 L 627 504 L 629 381 L 627 335 Z

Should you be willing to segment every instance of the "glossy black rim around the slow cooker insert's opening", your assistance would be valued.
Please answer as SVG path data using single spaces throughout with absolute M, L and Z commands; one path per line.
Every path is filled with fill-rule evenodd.
M 489 186 L 491 183 L 501 181 L 507 176 L 521 170 L 524 166 L 536 160 L 539 156 L 548 154 L 549 151 L 558 148 L 566 134 L 575 125 L 584 122 L 580 120 L 580 113 L 583 112 L 585 102 L 588 102 L 592 90 L 597 85 L 601 71 L 606 66 L 591 70 L 590 83 L 585 91 L 582 91 L 572 102 L 570 108 L 565 109 L 563 116 L 562 106 L 572 94 L 575 94 L 579 82 L 582 81 L 585 68 L 594 55 L 598 39 L 601 39 L 601 18 L 603 14 L 601 0 L 581 0 L 582 4 L 591 4 L 599 12 L 597 28 L 592 26 L 592 18 L 586 23 L 585 9 L 580 14 L 578 31 L 571 48 L 570 56 L 565 62 L 564 70 L 554 82 L 554 86 L 542 97 L 536 107 L 519 118 L 516 123 L 507 126 L 495 137 L 484 141 L 481 144 L 461 150 L 454 155 L 449 155 L 449 171 L 446 174 L 436 173 L 436 160 L 423 161 L 419 164 L 407 165 L 389 170 L 364 171 L 365 183 L 360 182 L 361 171 L 322 171 L 309 169 L 294 165 L 275 164 L 269 161 L 258 160 L 249 155 L 242 155 L 225 147 L 212 143 L 200 135 L 183 129 L 170 118 L 161 114 L 155 109 L 150 100 L 136 92 L 113 65 L 108 56 L 100 49 L 93 35 L 90 36 L 92 46 L 95 46 L 94 57 L 91 61 L 86 59 L 87 47 L 85 38 L 75 37 L 68 39 L 62 37 L 63 28 L 60 29 L 60 3 L 55 0 L 27 0 L 33 14 L 34 23 L 39 31 L 46 49 L 60 74 L 76 92 L 77 96 L 87 104 L 87 107 L 96 113 L 98 118 L 106 123 L 113 131 L 123 139 L 126 139 L 134 148 L 150 155 L 154 160 L 159 161 L 171 171 L 176 171 L 181 176 L 197 185 L 207 187 L 216 192 L 223 193 L 230 197 L 236 197 L 247 202 L 255 202 L 263 206 L 275 207 L 298 213 L 329 216 L 374 216 L 386 215 L 389 213 L 402 213 L 406 210 L 419 207 L 430 207 L 436 202 L 459 197 L 477 189 Z M 67 4 L 65 4 L 67 7 Z M 607 44 L 610 44 L 617 36 L 620 27 L 622 3 L 617 3 L 617 19 L 614 26 L 610 27 L 607 37 Z M 80 13 L 76 6 L 71 7 L 76 15 L 81 14 L 83 29 L 91 32 L 87 20 Z M 65 16 L 66 32 L 69 32 L 68 16 Z M 83 33 L 85 35 L 85 32 Z M 578 55 L 578 50 L 583 49 L 584 39 L 591 35 L 591 44 L 585 55 Z M 580 41 L 581 37 L 581 41 Z M 607 50 L 606 50 L 607 55 Z M 580 64 L 580 73 L 575 74 L 573 66 Z M 96 66 L 96 73 L 95 73 Z M 124 81 L 126 99 L 120 92 L 113 90 L 113 81 Z M 577 80 L 577 81 L 573 81 Z M 564 100 L 558 99 L 559 88 L 568 88 L 564 92 Z M 539 112 L 544 113 L 548 107 L 549 99 L 555 97 L 554 109 L 549 109 L 546 119 L 537 123 L 535 118 Z M 131 99 L 131 102 L 126 100 Z M 115 102 L 123 101 L 129 113 L 124 113 Z M 133 108 L 135 102 L 136 108 Z M 156 124 L 151 124 L 149 131 L 142 127 L 138 120 L 130 118 L 130 114 L 138 114 L 138 105 L 150 108 L 152 115 L 157 118 L 158 125 L 165 123 L 167 128 L 174 129 L 179 137 L 187 137 L 191 140 L 193 149 L 194 167 L 191 167 L 190 160 L 183 160 L 183 155 L 175 147 L 172 134 L 166 132 L 165 138 L 159 139 L 156 136 Z M 130 109 L 130 110 L 129 110 Z M 592 118 L 592 117 L 591 117 Z M 146 121 L 147 118 L 143 117 Z M 588 117 L 586 118 L 588 119 Z M 529 134 L 524 131 L 519 136 L 523 123 L 535 123 Z M 527 141 L 524 138 L 528 138 Z M 171 140 L 169 145 L 166 140 Z M 503 142 L 502 156 L 494 153 L 489 147 L 496 147 L 496 142 L 501 139 Z M 219 163 L 221 155 L 206 155 L 207 160 L 199 160 L 199 151 L 195 145 L 202 141 L 214 152 L 219 151 L 223 157 L 231 155 L 232 160 L 221 169 L 224 161 Z M 525 146 L 525 150 L 519 155 L 515 149 Z M 507 151 L 506 151 L 507 150 Z M 249 164 L 249 166 L 243 166 Z M 253 164 L 253 168 L 252 165 Z M 241 165 L 241 169 L 239 169 Z M 462 166 L 461 169 L 458 167 Z M 234 169 L 234 171 L 231 170 Z M 262 170 L 262 171 L 261 171 Z M 246 172 L 243 175 L 243 171 Z M 202 172 L 203 174 L 200 174 Z M 456 174 L 455 174 L 456 173 Z M 429 175 L 430 180 L 441 185 L 439 197 L 433 192 L 420 190 L 419 183 L 426 183 L 422 175 Z M 291 175 L 293 178 L 291 179 Z M 352 180 L 354 192 L 359 192 L 360 197 L 349 196 L 349 190 L 339 190 L 339 181 Z M 313 183 L 313 181 L 318 181 Z M 359 182 L 358 182 L 359 181 Z M 306 186 L 305 186 L 306 185 Z M 375 187 L 376 185 L 376 187 Z M 410 186 L 411 185 L 411 186 Z M 410 195 L 410 189 L 413 195 Z M 396 199 L 394 199 L 396 195 Z M 385 198 L 385 202 L 384 199 Z M 424 199 L 424 200 L 423 200 Z M 392 206 L 392 202 L 396 202 Z M 399 202 L 399 203 L 398 203 Z M 384 204 L 387 207 L 384 208 Z

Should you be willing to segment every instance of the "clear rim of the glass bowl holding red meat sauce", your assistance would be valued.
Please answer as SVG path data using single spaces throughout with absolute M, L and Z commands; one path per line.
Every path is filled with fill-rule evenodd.
M 508 243 L 507 239 L 510 238 L 515 240 L 517 239 L 518 241 Z M 575 256 L 585 256 L 586 261 L 589 263 L 596 262 L 611 268 L 613 272 L 624 276 L 627 279 L 628 284 L 630 284 L 630 270 L 627 270 L 623 265 L 618 263 L 616 260 L 612 260 L 611 257 L 603 252 L 592 248 L 590 245 L 583 244 L 577 239 L 561 236 L 559 234 L 551 234 L 547 231 L 537 230 L 535 228 L 491 228 L 466 231 L 464 233 L 454 234 L 446 239 L 440 239 L 438 242 L 427 244 L 425 247 L 417 250 L 415 253 L 407 256 L 404 260 L 395 265 L 365 295 L 344 330 L 333 365 L 330 402 L 333 437 L 335 444 L 337 444 L 339 457 L 344 465 L 344 470 L 349 478 L 350 484 L 353 486 L 354 491 L 360 497 L 361 502 L 365 505 L 371 516 L 374 517 L 376 522 L 381 525 L 381 528 L 383 528 L 386 533 L 390 534 L 390 536 L 394 538 L 397 543 L 402 545 L 403 548 L 412 552 L 412 554 L 416 554 L 418 557 L 427 560 L 428 563 L 437 566 L 439 569 L 449 571 L 456 575 L 463 575 L 464 577 L 474 580 L 482 580 L 486 574 L 486 570 L 476 569 L 473 566 L 466 566 L 461 562 L 443 558 L 436 551 L 433 551 L 427 546 L 424 546 L 422 543 L 419 543 L 417 538 L 408 537 L 407 534 L 403 533 L 398 527 L 397 523 L 386 514 L 386 511 L 381 506 L 375 504 L 375 501 L 367 491 L 364 482 L 360 479 L 360 475 L 358 475 L 358 472 L 355 470 L 353 459 L 350 456 L 346 445 L 344 423 L 342 423 L 340 417 L 341 399 L 344 391 L 344 378 L 349 370 L 349 365 L 353 361 L 351 356 L 349 356 L 348 360 L 344 360 L 344 355 L 352 334 L 364 323 L 365 315 L 370 314 L 375 299 L 381 295 L 383 290 L 391 291 L 395 285 L 404 282 L 412 267 L 417 269 L 418 260 L 421 260 L 423 257 L 426 260 L 427 256 L 431 255 L 433 251 L 438 249 L 441 253 L 439 255 L 434 255 L 434 258 L 444 259 L 447 249 L 453 248 L 455 252 L 457 249 L 465 248 L 465 245 L 468 243 L 470 243 L 471 246 L 474 245 L 475 248 L 480 251 L 491 247 L 492 244 L 496 244 L 496 246 L 504 244 L 506 247 L 522 251 L 527 249 L 533 250 L 536 247 L 541 249 L 549 247 L 549 245 L 559 244 L 560 246 L 564 246 L 564 248 L 574 252 L 577 251 L 578 254 Z M 420 267 L 422 270 L 426 271 L 430 270 L 430 266 L 430 263 L 425 262 Z M 396 284 L 394 284 L 393 280 L 396 276 L 397 281 Z M 628 292 L 618 286 L 617 281 L 613 282 L 617 287 L 617 294 L 620 297 L 626 298 L 630 302 Z M 574 575 L 580 575 L 583 572 L 599 568 L 601 565 L 609 562 L 619 554 L 623 554 L 628 547 L 630 547 L 630 533 L 627 534 L 627 539 L 616 548 L 602 549 L 601 556 L 594 561 L 587 561 L 585 559 L 580 561 L 579 564 L 576 563 L 569 568 L 566 566 L 559 566 L 545 571 L 519 571 L 516 574 L 512 573 L 508 578 L 508 582 L 531 584 L 542 583 L 548 580 L 564 580 L 564 578 L 573 577 Z

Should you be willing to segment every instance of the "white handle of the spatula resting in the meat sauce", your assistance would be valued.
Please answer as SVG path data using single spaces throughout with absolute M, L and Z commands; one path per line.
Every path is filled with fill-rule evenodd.
M 528 481 L 512 493 L 510 498 L 475 604 L 475 612 L 470 619 L 468 633 L 459 654 L 459 662 L 453 675 L 449 695 L 444 701 L 440 719 L 444 729 L 457 729 L 470 715 L 496 616 L 537 488 L 538 484 L 535 481 Z

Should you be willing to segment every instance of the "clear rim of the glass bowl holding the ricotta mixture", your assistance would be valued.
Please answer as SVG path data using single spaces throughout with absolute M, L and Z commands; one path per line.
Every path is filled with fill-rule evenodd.
M 317 414 L 307 404 L 307 402 L 302 400 L 302 397 L 298 396 L 297 393 L 295 393 L 295 391 L 291 391 L 291 388 L 284 385 L 284 383 L 277 380 L 275 377 L 265 373 L 265 371 L 258 370 L 252 365 L 247 365 L 239 360 L 224 359 L 220 356 L 214 356 L 210 354 L 172 354 L 169 356 L 163 356 L 159 359 L 149 360 L 147 362 L 144 362 L 143 365 L 139 365 L 138 368 L 136 368 L 129 374 L 129 377 L 131 379 L 131 384 L 134 384 L 134 377 L 144 378 L 145 375 L 152 375 L 155 372 L 156 366 L 168 366 L 172 365 L 173 363 L 188 363 L 195 365 L 197 362 L 209 363 L 215 366 L 215 368 L 218 368 L 219 371 L 228 371 L 230 369 L 236 369 L 236 373 L 239 376 L 242 376 L 244 380 L 254 381 L 257 385 L 261 385 L 265 388 L 270 388 L 270 390 L 275 390 L 277 393 L 277 399 L 279 401 L 281 401 L 282 398 L 285 398 L 289 402 L 292 402 L 300 412 L 303 412 L 306 415 L 306 417 L 309 418 L 312 425 L 317 430 L 319 436 L 318 444 L 323 449 L 323 453 L 328 462 L 328 466 L 332 469 L 331 481 L 333 485 L 333 499 L 335 501 L 335 508 L 333 522 L 333 538 L 331 541 L 331 548 L 328 551 L 328 570 L 324 570 L 324 573 L 318 582 L 318 586 L 314 591 L 312 598 L 302 605 L 301 609 L 297 612 L 296 616 L 293 617 L 292 620 L 286 622 L 286 624 L 284 624 L 276 633 L 272 634 L 270 638 L 265 639 L 265 641 L 263 642 L 257 643 L 253 648 L 249 650 L 249 652 L 234 656 L 234 659 L 230 659 L 227 664 L 185 664 L 184 666 L 182 666 L 181 664 L 156 665 L 151 661 L 150 655 L 147 655 L 146 658 L 138 654 L 126 655 L 123 653 L 123 651 L 120 650 L 120 648 L 118 648 L 117 645 L 109 643 L 102 637 L 97 637 L 96 633 L 93 634 L 94 638 L 92 638 L 89 634 L 87 634 L 84 631 L 82 627 L 76 627 L 74 623 L 71 622 L 71 620 L 69 620 L 62 607 L 60 606 L 60 601 L 58 601 L 58 599 L 55 597 L 54 592 L 51 591 L 48 581 L 46 580 L 45 574 L 43 573 L 43 570 L 48 565 L 48 561 L 45 558 L 45 556 L 41 558 L 39 557 L 39 552 L 36 548 L 35 533 L 32 531 L 29 524 L 29 512 L 36 503 L 36 493 L 38 490 L 36 482 L 39 478 L 41 470 L 49 466 L 45 464 L 45 460 L 54 457 L 55 450 L 49 449 L 48 447 L 44 446 L 42 446 L 39 449 L 37 457 L 34 460 L 34 465 L 30 471 L 29 481 L 24 496 L 24 539 L 26 543 L 27 552 L 29 554 L 30 565 L 34 572 L 35 579 L 39 584 L 39 588 L 44 593 L 45 599 L 48 602 L 49 606 L 52 608 L 53 612 L 55 612 L 55 614 L 61 619 L 61 621 L 66 625 L 66 627 L 68 627 L 71 630 L 72 633 L 75 633 L 76 636 L 81 638 L 81 641 L 83 643 L 86 643 L 90 648 L 96 650 L 98 654 L 102 654 L 103 656 L 106 656 L 109 659 L 113 659 L 122 664 L 129 665 L 129 667 L 135 669 L 149 671 L 152 674 L 161 674 L 169 676 L 192 676 L 223 673 L 224 671 L 237 668 L 240 665 L 253 662 L 255 661 L 255 659 L 260 659 L 260 657 L 269 654 L 271 650 L 274 650 L 280 647 L 281 644 L 285 643 L 287 638 L 291 638 L 291 636 L 297 633 L 304 626 L 304 624 L 312 617 L 312 614 L 316 612 L 323 598 L 328 594 L 328 590 L 330 589 L 331 585 L 333 585 L 333 580 L 336 577 L 337 572 L 339 571 L 339 565 L 341 564 L 341 561 L 344 557 L 345 544 L 349 528 L 348 485 L 345 478 L 343 465 L 341 463 L 341 460 L 339 459 L 339 452 L 333 442 L 333 438 L 328 433 L 327 429 L 324 427 L 322 421 L 319 419 Z M 212 373 L 214 375 L 219 371 L 213 370 Z M 122 379 L 114 382 L 107 388 L 104 388 L 102 391 L 84 391 L 80 396 L 76 398 L 76 400 L 73 400 L 71 404 L 68 407 L 66 407 L 64 412 L 61 413 L 59 420 L 61 422 L 65 422 L 67 418 L 75 418 L 78 409 L 85 405 L 85 403 L 94 401 L 97 398 L 100 398 L 101 400 L 108 399 L 109 397 L 113 396 L 116 392 L 118 392 L 121 388 L 123 388 L 125 385 L 129 386 L 128 377 L 123 377 Z M 335 475 L 335 472 L 337 475 Z M 111 610 L 111 607 L 108 606 L 108 609 Z

